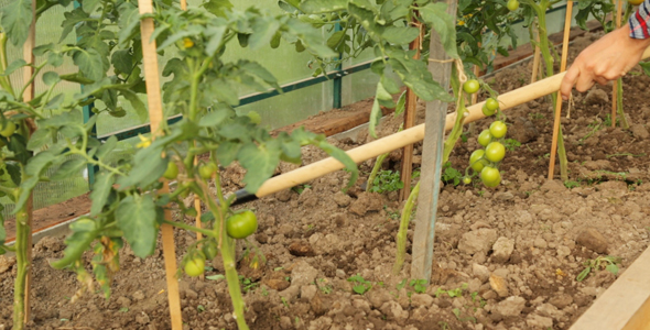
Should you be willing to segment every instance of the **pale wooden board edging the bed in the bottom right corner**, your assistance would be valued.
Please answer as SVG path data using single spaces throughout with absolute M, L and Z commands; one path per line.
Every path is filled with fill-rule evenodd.
M 585 311 L 570 330 L 650 329 L 650 248 Z

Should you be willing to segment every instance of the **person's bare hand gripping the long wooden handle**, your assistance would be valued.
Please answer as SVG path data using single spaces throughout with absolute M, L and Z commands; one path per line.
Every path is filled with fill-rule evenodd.
M 578 91 L 586 91 L 595 82 L 605 85 L 624 76 L 641 61 L 643 51 L 649 45 L 650 38 L 631 38 L 627 24 L 606 34 L 586 47 L 573 62 L 562 80 L 562 98 L 568 99 L 573 86 Z

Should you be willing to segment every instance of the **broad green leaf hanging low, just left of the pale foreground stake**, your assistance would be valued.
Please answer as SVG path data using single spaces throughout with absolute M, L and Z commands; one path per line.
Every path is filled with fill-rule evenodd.
M 132 195 L 122 199 L 115 218 L 137 256 L 145 257 L 153 253 L 158 238 L 158 211 L 151 195 Z

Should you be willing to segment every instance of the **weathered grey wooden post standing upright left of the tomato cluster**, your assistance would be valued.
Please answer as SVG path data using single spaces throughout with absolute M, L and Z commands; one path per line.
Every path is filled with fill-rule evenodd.
M 457 0 L 446 0 L 447 13 L 456 18 Z M 448 59 L 440 35 L 435 30 L 431 31 L 429 70 L 433 79 L 443 88 L 451 84 L 452 63 L 437 61 Z M 431 280 L 431 265 L 433 263 L 433 240 L 435 233 L 435 217 L 437 211 L 437 198 L 440 194 L 440 179 L 442 173 L 443 140 L 447 103 L 432 101 L 426 103 L 426 121 L 424 145 L 422 147 L 422 175 L 421 190 L 418 198 L 418 211 L 415 213 L 415 235 L 413 237 L 413 258 L 411 261 L 411 277 Z

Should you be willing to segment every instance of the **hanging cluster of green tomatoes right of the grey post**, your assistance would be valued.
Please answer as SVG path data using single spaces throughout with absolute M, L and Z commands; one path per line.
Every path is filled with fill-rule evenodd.
M 469 85 L 468 85 L 469 84 Z M 465 92 L 474 94 L 480 89 L 480 84 L 476 79 L 468 80 L 463 86 Z M 491 92 L 491 90 L 490 90 Z M 486 117 L 495 116 L 499 112 L 499 101 L 495 96 L 488 98 L 483 106 L 483 113 Z M 506 146 L 501 143 L 508 133 L 508 127 L 502 120 L 496 120 L 489 127 L 478 134 L 477 142 L 485 148 L 474 151 L 469 156 L 469 168 L 478 174 L 480 180 L 486 187 L 497 187 L 501 183 L 501 174 L 498 165 L 506 156 Z M 468 185 L 472 183 L 469 176 L 463 178 L 463 183 Z

